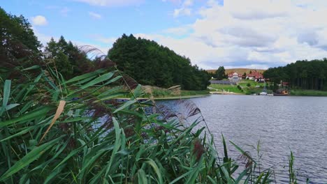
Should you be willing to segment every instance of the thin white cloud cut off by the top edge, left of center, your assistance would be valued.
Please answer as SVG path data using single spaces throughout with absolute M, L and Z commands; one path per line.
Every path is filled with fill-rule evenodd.
M 134 6 L 143 3 L 144 0 L 73 0 L 89 3 L 92 6 Z

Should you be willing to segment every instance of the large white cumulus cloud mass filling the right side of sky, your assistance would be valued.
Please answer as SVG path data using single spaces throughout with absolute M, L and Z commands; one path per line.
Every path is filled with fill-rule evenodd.
M 190 8 L 187 4 L 181 8 Z M 223 5 L 209 0 L 194 23 L 167 29 L 168 35 L 137 36 L 157 40 L 206 69 L 284 66 L 327 56 L 326 12 L 327 1 L 321 0 L 225 0 Z

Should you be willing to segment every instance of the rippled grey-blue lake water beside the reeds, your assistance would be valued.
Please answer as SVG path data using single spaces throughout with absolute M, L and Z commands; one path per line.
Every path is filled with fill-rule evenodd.
M 290 151 L 299 183 L 327 183 L 327 98 L 210 95 L 191 99 L 200 109 L 222 157 L 221 132 L 245 151 L 261 142 L 263 167 L 275 170 L 277 183 L 288 183 Z M 181 105 L 164 102 L 174 109 Z M 204 126 L 204 124 L 201 124 Z M 240 153 L 229 144 L 232 158 Z

